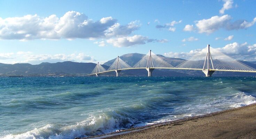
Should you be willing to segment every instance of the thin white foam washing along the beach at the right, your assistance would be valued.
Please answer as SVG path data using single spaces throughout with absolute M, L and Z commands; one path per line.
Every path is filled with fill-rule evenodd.
M 205 103 L 206 102 L 206 103 Z M 227 108 L 237 108 L 241 106 L 246 106 L 256 103 L 256 98 L 251 95 L 246 95 L 244 92 L 230 93 L 230 96 L 220 97 L 220 98 L 208 98 L 202 103 L 196 105 L 185 105 L 185 107 L 179 107 L 176 112 L 191 112 L 185 114 L 169 115 L 159 120 L 146 123 L 146 125 L 169 122 L 173 120 L 178 120 L 181 118 L 187 118 L 192 116 L 199 116 L 208 113 L 213 113 L 217 111 L 222 111 Z

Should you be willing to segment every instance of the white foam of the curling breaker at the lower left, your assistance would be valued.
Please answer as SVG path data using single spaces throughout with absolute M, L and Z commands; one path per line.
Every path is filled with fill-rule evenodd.
M 91 116 L 87 120 L 78 122 L 75 125 L 58 128 L 54 127 L 53 124 L 47 124 L 39 129 L 35 128 L 22 134 L 9 134 L 1 139 L 71 139 L 84 136 L 85 134 L 96 135 L 114 132 L 118 129 L 120 122 L 122 121 L 119 121 L 112 116 Z

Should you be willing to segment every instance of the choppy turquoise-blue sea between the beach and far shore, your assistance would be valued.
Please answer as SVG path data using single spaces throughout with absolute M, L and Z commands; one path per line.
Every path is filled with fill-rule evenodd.
M 0 138 L 69 139 L 256 103 L 256 77 L 0 77 Z

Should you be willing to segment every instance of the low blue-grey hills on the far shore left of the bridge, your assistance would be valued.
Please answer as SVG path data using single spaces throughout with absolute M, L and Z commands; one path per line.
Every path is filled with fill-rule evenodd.
M 95 63 L 57 62 L 31 64 L 0 64 L 0 74 L 6 75 L 47 75 L 47 74 L 89 74 L 96 66 Z M 108 68 L 108 66 L 105 66 Z

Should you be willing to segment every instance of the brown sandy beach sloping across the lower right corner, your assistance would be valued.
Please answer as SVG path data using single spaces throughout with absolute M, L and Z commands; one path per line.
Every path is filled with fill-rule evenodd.
M 256 104 L 90 139 L 256 139 Z M 84 138 L 85 139 L 85 138 Z

